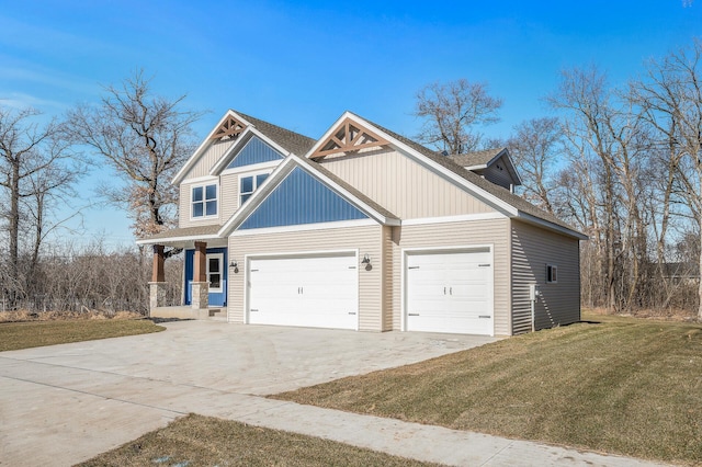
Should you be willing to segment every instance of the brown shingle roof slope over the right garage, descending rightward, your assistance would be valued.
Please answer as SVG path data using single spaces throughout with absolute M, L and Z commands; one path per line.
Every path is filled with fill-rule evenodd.
M 360 117 L 363 118 L 363 117 Z M 512 192 L 510 192 L 507 189 L 503 189 L 502 186 L 496 185 L 495 183 L 488 182 L 487 180 L 485 180 L 484 178 L 482 178 L 480 175 L 471 172 L 469 170 L 464 169 L 463 167 L 458 166 L 457 163 L 455 163 L 453 160 L 451 160 L 449 157 L 443 156 L 437 151 L 433 151 L 422 145 L 420 145 L 419 143 L 412 141 L 409 138 L 406 138 L 405 136 L 401 136 L 390 129 L 387 129 L 381 125 L 377 125 L 371 121 L 369 121 L 367 118 L 363 118 L 366 122 L 369 122 L 371 125 L 375 126 L 376 128 L 385 132 L 387 135 L 392 136 L 393 138 L 399 140 L 400 143 L 404 143 L 405 145 L 409 146 L 410 148 L 415 149 L 417 152 L 421 153 L 422 156 L 426 156 L 427 158 L 431 159 L 432 161 L 437 162 L 438 164 L 440 164 L 441 167 L 443 167 L 444 169 L 448 169 L 450 171 L 452 171 L 453 173 L 455 173 L 456 175 L 461 176 L 462 179 L 471 182 L 472 184 L 476 185 L 477 187 L 486 191 L 487 193 L 491 194 L 492 196 L 497 197 L 498 200 L 503 201 L 505 203 L 513 206 L 514 208 L 521 210 L 524 214 L 529 214 L 530 216 L 534 216 L 539 219 L 542 220 L 546 220 L 548 223 L 555 224 L 559 227 L 564 227 L 568 230 L 571 230 L 574 232 L 578 232 L 576 229 L 574 229 L 573 227 L 570 227 L 568 224 L 564 223 L 563 220 L 561 220 L 559 218 L 557 218 L 556 216 L 554 216 L 553 214 L 543 210 L 536 206 L 534 206 L 533 204 L 529 203 L 526 200 L 517 196 L 516 194 L 513 194 Z

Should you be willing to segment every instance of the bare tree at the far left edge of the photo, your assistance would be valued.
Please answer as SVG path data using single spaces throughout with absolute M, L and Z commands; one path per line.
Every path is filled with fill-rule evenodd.
M 72 162 L 76 155 L 64 139 L 63 125 L 55 119 L 42 125 L 39 112 L 33 109 L 13 111 L 0 106 L 0 187 L 7 196 L 8 246 L 10 250 L 8 276 L 15 292 L 20 292 L 20 247 L 23 229 L 36 230 L 30 271 L 36 266 L 42 240 L 41 229 L 45 228 L 44 217 L 26 215 L 27 206 L 37 206 L 32 200 L 45 201 L 64 190 L 70 190 L 80 169 Z M 37 197 L 38 196 L 38 197 Z M 42 215 L 49 206 L 41 205 Z M 53 206 L 56 208 L 57 206 Z M 25 209 L 23 209 L 25 208 Z M 30 209 L 31 214 L 38 212 Z M 33 227 L 22 225 L 23 220 Z M 26 224 L 26 223 L 25 223 Z

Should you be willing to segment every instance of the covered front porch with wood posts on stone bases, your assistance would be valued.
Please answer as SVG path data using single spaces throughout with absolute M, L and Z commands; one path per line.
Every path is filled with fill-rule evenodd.
M 149 317 L 227 320 L 227 240 L 217 236 L 218 230 L 219 226 L 179 228 L 137 241 L 152 251 Z M 181 303 L 167 306 L 167 258 L 173 251 L 185 257 Z

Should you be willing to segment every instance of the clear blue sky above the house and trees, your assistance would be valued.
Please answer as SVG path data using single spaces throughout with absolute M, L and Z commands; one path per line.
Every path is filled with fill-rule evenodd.
M 158 93 L 211 111 L 203 138 L 227 109 L 310 137 L 350 110 L 411 137 L 417 90 L 466 78 L 503 100 L 485 133 L 507 137 L 548 114 L 561 70 L 597 65 L 622 84 L 702 36 L 702 0 L 347 3 L 0 0 L 0 103 L 61 115 L 144 68 Z M 95 169 L 81 195 L 109 176 Z M 133 244 L 124 213 L 83 221 L 78 242 Z

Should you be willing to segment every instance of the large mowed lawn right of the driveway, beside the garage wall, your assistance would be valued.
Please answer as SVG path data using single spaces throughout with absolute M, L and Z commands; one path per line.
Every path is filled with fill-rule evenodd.
M 272 396 L 457 430 L 702 463 L 702 327 L 589 316 Z

